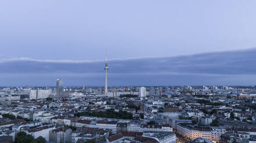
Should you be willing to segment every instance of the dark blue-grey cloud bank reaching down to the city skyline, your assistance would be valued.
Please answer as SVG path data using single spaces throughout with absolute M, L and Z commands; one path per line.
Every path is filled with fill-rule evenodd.
M 179 57 L 110 59 L 109 85 L 246 85 L 256 80 L 256 49 Z M 104 61 L 0 60 L 0 84 L 104 84 Z M 26 84 L 25 84 L 26 83 Z

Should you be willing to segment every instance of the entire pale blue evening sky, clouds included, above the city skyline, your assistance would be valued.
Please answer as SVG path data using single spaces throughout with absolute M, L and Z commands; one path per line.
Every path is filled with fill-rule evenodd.
M 0 1 L 0 86 L 255 85 L 256 1 Z

